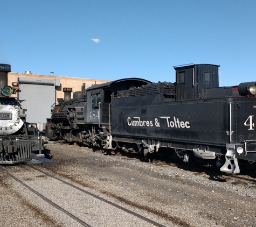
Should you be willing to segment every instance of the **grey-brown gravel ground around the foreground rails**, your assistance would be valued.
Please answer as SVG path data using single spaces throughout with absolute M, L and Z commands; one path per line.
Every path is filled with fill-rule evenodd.
M 34 165 L 165 226 L 256 226 L 253 185 L 219 182 L 207 174 L 153 165 L 140 158 L 46 144 L 53 164 Z M 8 172 L 91 226 L 153 226 L 29 166 Z M 81 226 L 0 172 L 1 226 Z

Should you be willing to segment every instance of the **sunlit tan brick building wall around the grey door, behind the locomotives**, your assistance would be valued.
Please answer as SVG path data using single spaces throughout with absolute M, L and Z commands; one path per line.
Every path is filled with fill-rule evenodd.
M 56 87 L 56 101 L 57 98 L 64 98 L 63 88 L 72 88 L 73 92 L 81 91 L 81 86 L 85 83 L 86 87 L 92 86 L 92 84 L 101 84 L 109 82 L 109 80 L 95 80 L 95 79 L 84 79 L 84 78 L 75 78 L 75 77 L 65 77 L 65 76 L 47 76 L 39 74 L 26 74 L 26 73 L 8 73 L 8 85 L 11 86 L 12 82 L 18 82 L 18 77 L 27 77 L 35 79 L 46 79 L 46 80 L 60 80 L 60 86 Z M 12 95 L 16 96 L 17 95 Z M 71 98 L 73 94 L 71 94 Z

